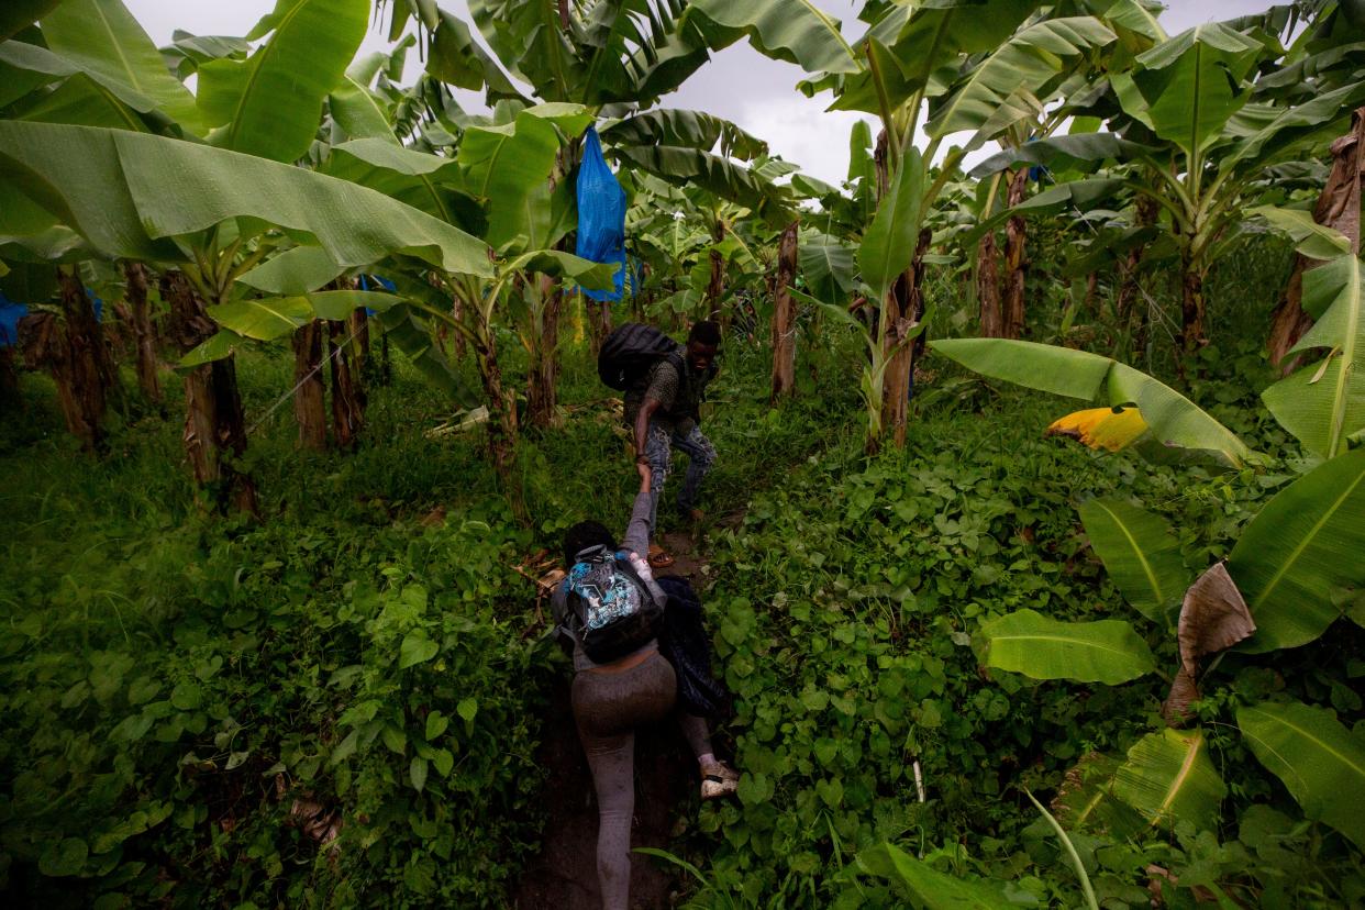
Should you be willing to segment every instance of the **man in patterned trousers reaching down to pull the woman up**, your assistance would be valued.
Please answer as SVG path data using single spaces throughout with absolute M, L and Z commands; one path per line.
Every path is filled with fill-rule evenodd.
M 666 356 L 650 367 L 644 385 L 625 393 L 625 420 L 635 430 L 635 461 L 650 467 L 650 529 L 658 527 L 659 494 L 667 478 L 673 449 L 688 457 L 687 475 L 678 490 L 678 508 L 693 521 L 702 479 L 715 464 L 715 446 L 702 435 L 700 404 L 706 386 L 715 377 L 715 352 L 721 345 L 721 327 L 710 321 L 698 322 L 687 337 L 681 357 Z M 650 562 L 655 568 L 672 565 L 662 551 Z

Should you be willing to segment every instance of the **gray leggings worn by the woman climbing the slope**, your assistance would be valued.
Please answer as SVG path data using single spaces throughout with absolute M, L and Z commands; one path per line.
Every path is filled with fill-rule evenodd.
M 573 719 L 598 794 L 598 881 L 606 910 L 627 910 L 631 892 L 631 819 L 635 814 L 635 727 L 674 712 L 692 753 L 711 752 L 703 718 L 674 711 L 677 677 L 658 652 L 621 673 L 573 677 Z

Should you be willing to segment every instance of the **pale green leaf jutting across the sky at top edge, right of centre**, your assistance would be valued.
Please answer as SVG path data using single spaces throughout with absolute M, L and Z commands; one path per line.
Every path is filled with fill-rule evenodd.
M 839 20 L 812 0 L 693 0 L 688 16 L 699 19 L 713 48 L 743 35 L 764 56 L 786 60 L 807 72 L 857 72 L 857 52 L 839 31 Z

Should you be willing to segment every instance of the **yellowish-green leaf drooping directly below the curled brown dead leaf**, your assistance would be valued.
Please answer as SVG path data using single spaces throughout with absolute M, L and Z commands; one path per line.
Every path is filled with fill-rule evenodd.
M 1208 756 L 1203 730 L 1167 729 L 1127 750 L 1111 791 L 1152 827 L 1189 821 L 1207 831 L 1218 824 L 1227 786 Z

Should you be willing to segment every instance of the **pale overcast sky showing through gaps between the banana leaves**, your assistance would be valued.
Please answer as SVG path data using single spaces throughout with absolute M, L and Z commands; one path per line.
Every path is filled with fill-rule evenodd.
M 274 0 L 231 0 L 231 3 L 124 0 L 124 3 L 158 45 L 168 44 L 171 33 L 176 29 L 201 35 L 243 35 L 261 16 L 274 8 Z M 850 0 L 815 0 L 815 3 L 841 19 L 844 31 L 850 38 L 857 37 L 863 27 L 863 23 L 856 20 L 860 3 Z M 445 0 L 441 5 L 470 22 L 465 0 Z M 1162 25 L 1170 34 L 1175 34 L 1201 22 L 1259 12 L 1268 5 L 1271 0 L 1173 0 L 1162 14 Z M 371 30 L 362 45 L 362 53 L 386 46 L 385 35 Z M 665 98 L 663 104 L 670 108 L 706 111 L 733 120 L 744 130 L 766 139 L 775 154 L 799 164 L 803 171 L 820 180 L 837 184 L 848 171 L 849 128 L 854 120 L 867 115 L 826 112 L 824 108 L 830 102 L 829 93 L 807 98 L 796 91 L 794 86 L 803 75 L 799 67 L 768 60 L 744 41 L 713 55 L 711 61 L 677 93 Z M 465 106 L 478 106 L 476 96 L 457 94 Z

